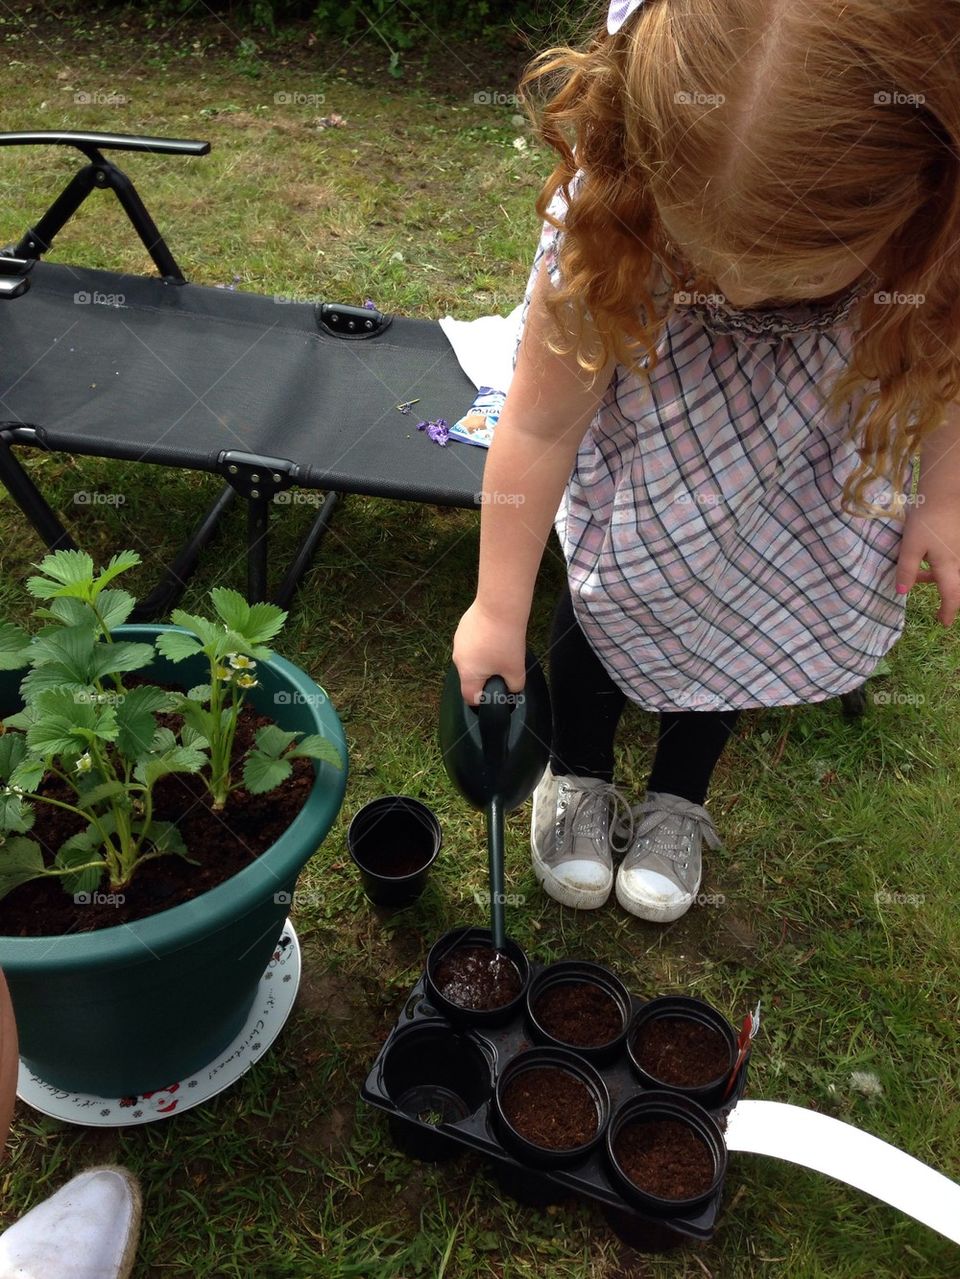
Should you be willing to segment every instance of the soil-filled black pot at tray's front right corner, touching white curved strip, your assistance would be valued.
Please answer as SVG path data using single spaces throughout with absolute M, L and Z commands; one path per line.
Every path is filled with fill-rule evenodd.
M 726 1142 L 717 1122 L 697 1101 L 672 1092 L 643 1092 L 624 1101 L 610 1120 L 606 1154 L 624 1196 L 658 1216 L 704 1207 L 726 1175 Z

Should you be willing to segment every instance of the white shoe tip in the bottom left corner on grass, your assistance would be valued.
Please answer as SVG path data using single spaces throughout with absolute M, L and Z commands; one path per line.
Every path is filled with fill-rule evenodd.
M 0 1279 L 128 1279 L 139 1228 L 133 1173 L 88 1168 L 0 1234 Z

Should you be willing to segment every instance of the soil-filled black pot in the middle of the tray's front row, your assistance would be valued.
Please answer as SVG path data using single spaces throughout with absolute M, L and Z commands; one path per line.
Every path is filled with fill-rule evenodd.
M 534 1168 L 584 1160 L 610 1119 L 607 1086 L 589 1062 L 562 1048 L 532 1048 L 507 1063 L 493 1094 L 507 1150 Z

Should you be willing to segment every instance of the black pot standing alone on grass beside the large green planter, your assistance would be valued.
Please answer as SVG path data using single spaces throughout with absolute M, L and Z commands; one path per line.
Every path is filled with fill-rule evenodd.
M 376 906 L 409 906 L 427 883 L 442 834 L 436 813 L 409 796 L 372 799 L 346 830 L 363 891 Z

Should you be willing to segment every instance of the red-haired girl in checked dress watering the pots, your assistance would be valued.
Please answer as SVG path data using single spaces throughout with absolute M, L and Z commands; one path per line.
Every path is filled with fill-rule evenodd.
M 960 604 L 960 6 L 620 0 L 542 78 L 559 160 L 454 660 L 470 702 L 523 688 L 552 526 L 533 866 L 591 908 L 623 852 L 617 900 L 667 921 L 740 711 L 863 684 L 915 581 Z M 660 712 L 635 806 L 626 698 Z

